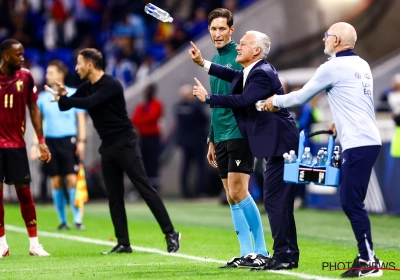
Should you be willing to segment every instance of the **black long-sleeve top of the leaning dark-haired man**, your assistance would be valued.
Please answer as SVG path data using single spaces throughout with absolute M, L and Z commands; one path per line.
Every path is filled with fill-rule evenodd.
M 62 96 L 58 106 L 61 111 L 72 107 L 86 109 L 103 144 L 136 137 L 126 111 L 122 85 L 110 75 L 104 74 L 94 84 L 83 83 L 71 97 Z

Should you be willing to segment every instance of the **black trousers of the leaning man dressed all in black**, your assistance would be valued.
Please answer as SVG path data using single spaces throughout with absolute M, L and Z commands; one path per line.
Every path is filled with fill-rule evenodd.
M 151 187 L 143 167 L 137 139 L 120 139 L 111 145 L 101 145 L 101 166 L 107 189 L 111 219 L 118 244 L 129 246 L 128 222 L 124 203 L 124 172 L 156 218 L 162 232 L 174 227 L 158 192 Z

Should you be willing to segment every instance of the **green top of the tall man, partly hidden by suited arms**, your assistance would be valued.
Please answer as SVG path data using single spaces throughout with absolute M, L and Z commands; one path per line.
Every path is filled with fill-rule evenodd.
M 242 70 L 243 67 L 235 61 L 237 56 L 237 44 L 232 40 L 224 47 L 217 49 L 211 62 L 217 63 L 235 70 Z M 229 95 L 231 83 L 210 76 L 210 87 L 212 94 Z M 211 125 L 208 133 L 210 142 L 218 143 L 235 138 L 243 138 L 239 131 L 236 119 L 229 108 L 212 108 Z

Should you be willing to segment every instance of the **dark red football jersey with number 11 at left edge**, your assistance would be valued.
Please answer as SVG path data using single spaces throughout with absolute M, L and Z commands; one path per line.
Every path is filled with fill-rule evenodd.
M 25 147 L 26 105 L 37 98 L 28 69 L 22 68 L 12 77 L 0 73 L 0 148 Z

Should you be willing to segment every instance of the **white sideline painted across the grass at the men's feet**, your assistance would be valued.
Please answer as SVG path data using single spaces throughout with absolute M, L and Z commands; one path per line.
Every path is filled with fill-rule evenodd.
M 21 227 L 16 227 L 16 226 L 11 226 L 11 225 L 5 225 L 5 227 L 7 230 L 10 230 L 10 231 L 26 233 L 26 228 L 21 228 Z M 105 240 L 88 238 L 88 237 L 81 237 L 81 236 L 76 236 L 76 235 L 68 235 L 68 234 L 62 234 L 62 233 L 53 233 L 53 232 L 41 231 L 41 230 L 38 231 L 38 235 L 46 236 L 46 237 L 53 237 L 53 238 L 68 239 L 68 240 L 79 241 L 79 242 L 83 242 L 83 243 L 98 244 L 98 245 L 109 245 L 109 246 L 116 245 L 115 242 L 111 242 L 111 241 L 105 241 Z M 164 255 L 164 256 L 169 256 L 169 257 L 177 257 L 177 258 L 196 260 L 196 261 L 201 261 L 201 262 L 213 262 L 213 263 L 219 263 L 219 264 L 226 263 L 226 261 L 220 261 L 220 260 L 215 260 L 215 259 L 206 258 L 206 257 L 201 258 L 201 257 L 195 257 L 195 256 L 190 256 L 190 255 L 185 255 L 185 254 L 180 254 L 180 253 L 172 253 L 171 254 L 171 253 L 167 253 L 165 251 L 161 251 L 159 249 L 145 248 L 145 247 L 139 247 L 139 246 L 131 246 L 131 247 L 135 251 L 154 253 L 154 254 L 159 254 L 159 255 Z M 317 275 L 291 272 L 291 271 L 286 271 L 286 270 L 276 270 L 276 271 L 268 270 L 265 272 L 285 274 L 285 275 L 299 277 L 302 279 L 314 279 L 314 280 L 335 279 L 335 278 L 327 278 L 327 277 L 322 277 L 322 276 L 317 276 Z M 257 271 L 254 271 L 254 273 L 257 273 Z

